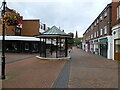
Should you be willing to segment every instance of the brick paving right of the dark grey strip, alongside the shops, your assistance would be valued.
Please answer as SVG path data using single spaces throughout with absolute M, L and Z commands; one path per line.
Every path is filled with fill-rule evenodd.
M 74 48 L 69 88 L 117 88 L 118 62 Z

